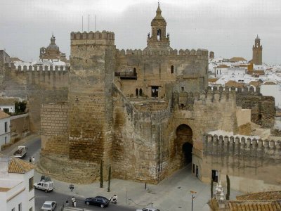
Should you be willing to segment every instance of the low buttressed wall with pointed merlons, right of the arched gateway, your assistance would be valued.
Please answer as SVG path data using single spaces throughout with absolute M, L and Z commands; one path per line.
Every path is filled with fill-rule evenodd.
M 257 140 L 247 137 L 208 135 L 204 138 L 203 181 L 209 182 L 211 170 L 221 175 L 240 177 L 231 186 L 247 191 L 247 183 L 262 181 L 261 186 L 252 186 L 251 191 L 266 191 L 280 188 L 281 141 Z M 231 183 L 231 180 L 230 180 Z M 278 187 L 279 186 L 279 187 Z M 273 189 L 271 189 L 273 190 Z

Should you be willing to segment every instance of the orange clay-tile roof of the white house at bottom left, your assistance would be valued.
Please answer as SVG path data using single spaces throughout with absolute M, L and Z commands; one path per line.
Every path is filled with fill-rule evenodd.
M 25 174 L 34 169 L 34 165 L 19 158 L 12 158 L 8 165 L 9 173 Z

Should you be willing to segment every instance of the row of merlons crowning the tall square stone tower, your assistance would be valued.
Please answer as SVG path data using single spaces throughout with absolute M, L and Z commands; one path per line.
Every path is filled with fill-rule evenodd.
M 110 39 L 115 40 L 114 32 L 108 32 L 103 30 L 103 32 L 71 32 L 70 39 L 72 40 L 82 40 L 82 39 Z

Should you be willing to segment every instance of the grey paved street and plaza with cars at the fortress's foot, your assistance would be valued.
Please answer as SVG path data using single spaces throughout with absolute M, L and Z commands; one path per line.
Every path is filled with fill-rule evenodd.
M 31 156 L 35 158 L 35 163 L 39 159 L 41 141 L 39 136 L 30 136 L 29 138 L 17 143 L 28 147 L 25 160 Z M 15 146 L 16 147 L 16 146 Z M 7 149 L 4 153 L 12 155 L 13 151 Z M 41 174 L 34 173 L 34 182 L 38 182 Z M 40 210 L 45 200 L 55 200 L 58 207 L 65 203 L 65 200 L 72 196 L 77 198 L 77 207 L 84 207 L 87 210 L 101 210 L 100 207 L 86 206 L 84 199 L 94 196 L 105 196 L 110 198 L 113 194 L 118 196 L 118 205 L 111 204 L 106 210 L 136 210 L 136 207 L 154 206 L 161 211 L 191 210 L 190 191 L 196 191 L 196 198 L 193 200 L 193 211 L 209 210 L 207 202 L 210 196 L 209 184 L 203 184 L 199 179 L 191 174 L 190 166 L 178 170 L 171 177 L 164 179 L 157 185 L 145 184 L 121 179 L 112 179 L 110 192 L 107 192 L 107 182 L 104 188 L 100 188 L 99 182 L 92 184 L 74 184 L 74 191 L 71 192 L 68 183 L 53 179 L 55 190 L 51 193 L 44 191 L 35 191 L 35 207 Z M 240 193 L 231 190 L 230 198 Z

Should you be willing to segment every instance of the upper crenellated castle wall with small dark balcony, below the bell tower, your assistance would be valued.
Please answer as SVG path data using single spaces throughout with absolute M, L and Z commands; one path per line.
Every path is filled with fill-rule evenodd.
M 172 67 L 173 66 L 173 67 Z M 125 95 L 135 95 L 142 89 L 143 95 L 151 97 L 151 87 L 159 86 L 159 97 L 165 96 L 165 84 L 181 78 L 185 91 L 206 89 L 208 81 L 208 51 L 117 51 L 117 72 L 133 72 L 137 79 L 119 79 Z M 116 77 L 115 77 L 116 78 Z

